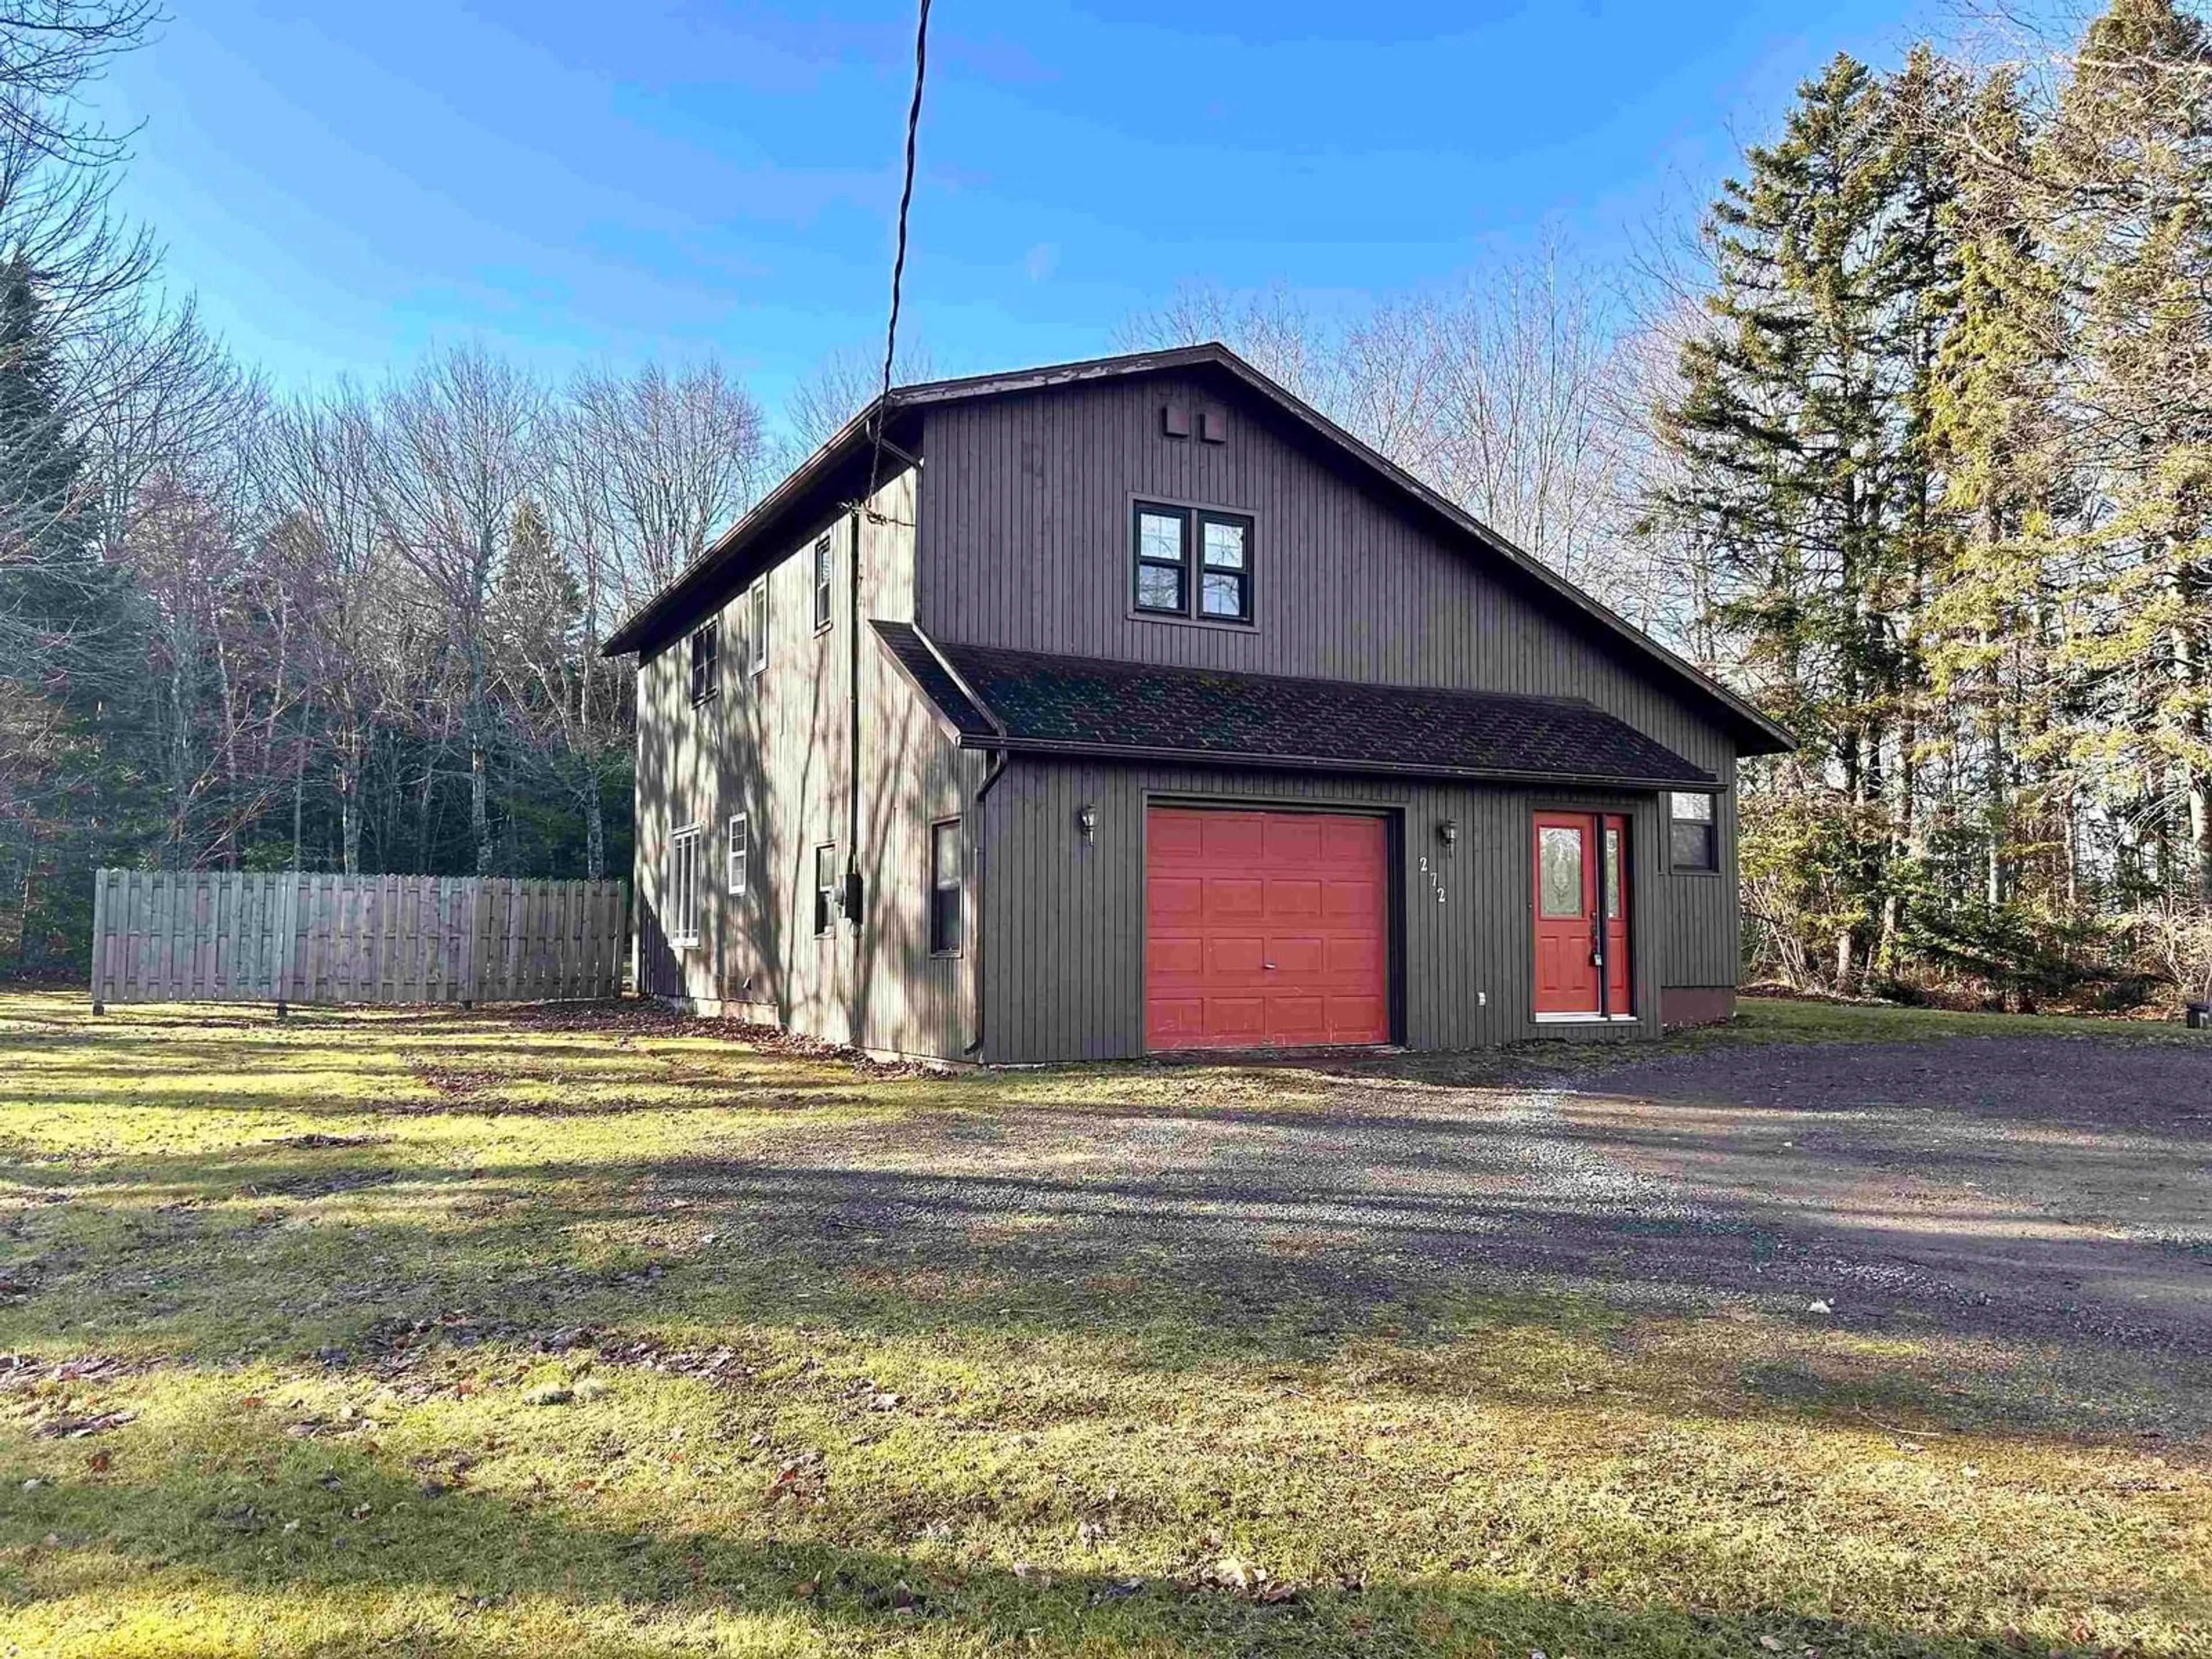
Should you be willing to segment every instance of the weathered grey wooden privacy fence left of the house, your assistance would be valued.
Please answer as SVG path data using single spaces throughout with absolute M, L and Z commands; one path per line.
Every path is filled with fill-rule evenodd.
M 622 993 L 619 880 L 102 869 L 108 1002 L 566 1002 Z

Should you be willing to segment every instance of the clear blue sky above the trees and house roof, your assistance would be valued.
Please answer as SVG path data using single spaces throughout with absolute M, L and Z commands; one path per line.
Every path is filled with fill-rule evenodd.
M 721 356 L 774 407 L 880 349 L 907 4 L 175 0 L 100 102 L 168 279 L 279 387 L 427 345 Z M 1692 210 L 1924 0 L 940 0 L 909 312 L 933 367 L 1115 347 L 1181 283 L 1310 303 Z

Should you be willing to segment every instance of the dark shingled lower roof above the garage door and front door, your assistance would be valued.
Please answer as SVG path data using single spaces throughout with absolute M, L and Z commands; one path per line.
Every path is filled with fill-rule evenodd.
M 1714 783 L 1663 743 L 1571 697 L 1155 668 L 995 646 L 940 646 L 953 668 L 947 675 L 911 628 L 876 628 L 947 721 L 984 748 L 1429 776 Z M 889 628 L 911 637 L 927 670 L 909 661 Z

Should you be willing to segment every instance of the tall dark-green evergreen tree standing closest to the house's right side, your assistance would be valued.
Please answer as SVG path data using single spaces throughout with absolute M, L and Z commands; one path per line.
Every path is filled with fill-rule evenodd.
M 1659 509 L 1710 553 L 1719 619 L 1805 745 L 1747 803 L 1750 878 L 1792 889 L 1838 980 L 1876 967 L 1871 922 L 1896 933 L 1891 774 L 1940 493 L 1927 387 L 1955 288 L 1922 146 L 1947 95 L 1933 62 L 1882 82 L 1851 58 L 1798 88 L 1712 206 L 1710 321 L 1661 411 L 1681 467 Z

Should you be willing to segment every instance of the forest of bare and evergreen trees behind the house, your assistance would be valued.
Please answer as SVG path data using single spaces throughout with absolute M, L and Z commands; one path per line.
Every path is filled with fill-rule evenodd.
M 73 58 L 0 51 L 0 967 L 77 964 L 97 863 L 624 874 L 597 639 L 869 374 L 774 429 L 712 363 L 276 396 L 161 299 L 75 119 L 148 11 L 73 11 Z M 1741 779 L 1754 978 L 2201 995 L 2208 212 L 2201 7 L 2115 0 L 1838 58 L 1632 270 L 1194 288 L 1124 334 L 1228 338 L 1790 726 Z

